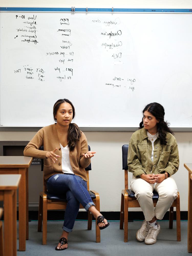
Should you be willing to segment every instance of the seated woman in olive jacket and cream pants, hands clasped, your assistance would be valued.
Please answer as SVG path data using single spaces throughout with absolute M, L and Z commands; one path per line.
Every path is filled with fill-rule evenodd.
M 133 133 L 129 142 L 127 164 L 129 172 L 133 173 L 131 189 L 145 216 L 136 238 L 146 244 L 156 243 L 160 232 L 156 220 L 163 219 L 177 198 L 177 185 L 172 175 L 179 167 L 178 147 L 164 115 L 161 104 L 146 105 L 139 130 Z M 155 208 L 153 190 L 159 194 Z

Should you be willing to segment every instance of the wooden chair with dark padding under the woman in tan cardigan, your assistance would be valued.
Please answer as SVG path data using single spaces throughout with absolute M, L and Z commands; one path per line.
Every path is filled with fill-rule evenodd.
M 90 146 L 88 146 L 90 151 Z M 40 148 L 43 150 L 43 146 Z M 44 161 L 41 159 L 41 171 L 43 171 Z M 95 208 L 100 211 L 100 198 L 99 193 L 95 190 L 89 190 L 89 170 L 91 170 L 91 164 L 85 168 L 88 182 L 87 189 L 95 204 Z M 66 209 L 67 200 L 65 195 L 58 196 L 55 194 L 51 194 L 47 191 L 46 181 L 43 178 L 43 192 L 40 193 L 39 197 L 39 214 L 38 214 L 38 232 L 42 230 L 42 222 L 43 222 L 43 232 L 42 232 L 42 244 L 47 244 L 47 210 L 57 210 L 57 209 Z M 80 204 L 80 209 L 84 209 L 84 207 Z M 88 212 L 88 226 L 87 229 L 91 230 L 92 228 L 92 214 Z M 95 230 L 96 230 L 96 243 L 100 243 L 100 229 L 97 225 L 97 221 L 95 221 Z

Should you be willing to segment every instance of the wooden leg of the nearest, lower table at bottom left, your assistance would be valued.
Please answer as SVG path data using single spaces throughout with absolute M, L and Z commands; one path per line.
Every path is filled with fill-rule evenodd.
M 17 239 L 13 239 L 16 230 L 14 225 L 16 212 L 13 212 L 16 207 L 13 207 L 13 193 L 14 192 L 10 190 L 4 191 L 4 248 L 6 256 L 16 256 L 16 254 L 13 254 L 13 247 L 15 247 L 16 244 L 14 239 Z

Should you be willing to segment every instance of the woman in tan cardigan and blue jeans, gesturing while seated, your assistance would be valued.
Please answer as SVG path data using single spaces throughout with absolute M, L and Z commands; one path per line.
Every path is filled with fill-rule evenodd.
M 67 208 L 65 221 L 56 250 L 68 247 L 68 234 L 81 203 L 97 220 L 100 229 L 109 226 L 107 220 L 95 208 L 87 191 L 86 168 L 96 152 L 88 151 L 86 136 L 79 127 L 71 123 L 75 116 L 73 104 L 67 99 L 60 99 L 54 104 L 55 124 L 40 129 L 25 147 L 24 155 L 44 159 L 44 178 L 50 193 L 66 194 Z M 44 146 L 44 151 L 39 150 Z

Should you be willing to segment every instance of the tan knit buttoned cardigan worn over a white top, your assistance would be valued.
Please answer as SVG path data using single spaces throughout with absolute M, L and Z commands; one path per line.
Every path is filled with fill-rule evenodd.
M 44 151 L 39 150 L 41 146 L 44 146 Z M 58 157 L 57 161 L 53 163 L 51 159 L 46 158 L 46 153 L 53 151 L 56 147 L 58 150 L 55 152 L 55 154 L 59 155 L 60 157 Z M 74 174 L 80 176 L 83 180 L 88 181 L 84 168 L 91 163 L 91 160 L 83 157 L 83 154 L 86 152 L 88 152 L 87 138 L 84 133 L 81 132 L 80 140 L 77 141 L 74 150 L 69 152 L 69 159 Z M 61 165 L 62 153 L 55 124 L 45 126 L 35 134 L 32 140 L 25 147 L 24 156 L 44 159 L 45 180 L 54 174 L 63 173 Z

